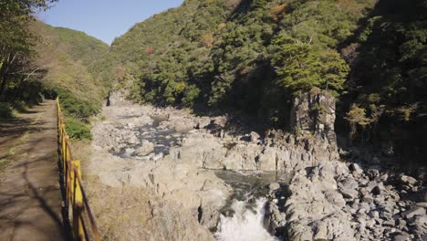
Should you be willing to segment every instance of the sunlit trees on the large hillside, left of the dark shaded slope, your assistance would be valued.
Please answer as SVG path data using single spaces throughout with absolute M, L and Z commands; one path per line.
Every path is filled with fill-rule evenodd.
M 345 92 L 349 66 L 338 50 L 373 4 L 187 0 L 117 38 L 103 65 L 109 79 L 132 83 L 134 100 L 234 108 L 284 124 L 296 91 Z

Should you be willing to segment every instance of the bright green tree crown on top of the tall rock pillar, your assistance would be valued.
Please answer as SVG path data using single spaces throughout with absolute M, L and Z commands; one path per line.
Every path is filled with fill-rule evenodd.
M 280 35 L 273 40 L 272 64 L 279 85 L 297 90 L 315 87 L 331 90 L 338 95 L 349 73 L 349 66 L 332 49 L 317 52 L 307 44 Z

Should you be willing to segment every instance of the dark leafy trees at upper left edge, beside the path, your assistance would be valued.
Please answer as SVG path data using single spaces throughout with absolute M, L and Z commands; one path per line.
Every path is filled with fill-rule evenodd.
M 33 14 L 55 0 L 0 2 L 0 101 L 28 99 L 22 94 L 28 82 L 42 78 L 44 68 L 35 61 L 39 37 L 29 27 Z M 36 100 L 32 100 L 36 101 Z

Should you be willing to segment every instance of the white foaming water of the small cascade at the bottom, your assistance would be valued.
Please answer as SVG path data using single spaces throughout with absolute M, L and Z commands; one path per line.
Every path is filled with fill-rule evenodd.
M 233 216 L 221 215 L 215 238 L 218 241 L 276 241 L 263 226 L 266 198 L 256 200 L 255 213 L 246 201 L 234 200 Z

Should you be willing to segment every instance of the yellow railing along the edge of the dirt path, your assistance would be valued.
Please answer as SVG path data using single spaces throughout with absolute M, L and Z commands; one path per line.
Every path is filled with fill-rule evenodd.
M 74 240 L 100 240 L 95 217 L 90 211 L 88 197 L 81 181 L 80 161 L 73 160 L 68 134 L 59 99 L 57 99 L 57 127 L 59 137 L 61 181 L 64 186 L 64 203 Z M 69 215 L 68 215 L 69 216 Z M 89 224 L 88 225 L 88 220 Z

